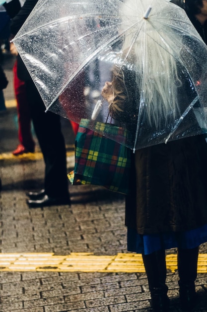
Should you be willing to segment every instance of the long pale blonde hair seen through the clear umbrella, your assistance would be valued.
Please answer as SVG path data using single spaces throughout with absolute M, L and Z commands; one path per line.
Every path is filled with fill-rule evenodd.
M 169 6 L 164 0 L 156 0 L 156 6 L 159 3 L 163 11 L 166 5 Z M 144 109 L 148 124 L 158 129 L 162 121 L 167 124 L 178 116 L 177 89 L 181 81 L 176 61 L 179 55 L 176 56 L 175 51 L 180 53 L 182 42 L 179 36 L 178 42 L 172 42 L 163 31 L 165 25 L 160 24 L 158 29 L 157 17 L 153 18 L 153 0 L 144 0 L 144 7 L 147 4 L 152 4 L 149 18 L 137 20 L 137 16 L 145 13 L 140 1 L 125 1 L 122 22 L 123 29 L 128 30 L 123 31 L 123 55 L 135 62 L 136 82 L 141 93 L 140 109 Z

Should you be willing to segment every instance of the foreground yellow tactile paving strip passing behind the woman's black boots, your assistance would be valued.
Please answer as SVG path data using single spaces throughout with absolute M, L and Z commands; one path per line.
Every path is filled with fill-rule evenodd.
M 177 256 L 166 256 L 167 269 L 177 269 Z M 115 256 L 95 256 L 92 253 L 71 253 L 56 256 L 53 253 L 0 254 L 0 271 L 15 272 L 123 272 L 143 273 L 144 266 L 140 254 L 117 254 Z M 207 254 L 200 254 L 198 273 L 207 273 Z

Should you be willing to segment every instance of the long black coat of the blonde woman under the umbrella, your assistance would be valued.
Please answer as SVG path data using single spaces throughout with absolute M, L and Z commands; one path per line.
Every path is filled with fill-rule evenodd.
M 178 93 L 186 95 L 185 77 L 183 80 Z M 122 75 L 114 69 L 115 98 L 110 113 L 117 119 L 123 120 L 126 112 L 135 111 L 137 85 L 133 81 L 131 71 L 125 70 Z M 200 129 L 194 113 L 188 114 L 191 121 L 194 118 L 196 129 Z M 132 120 L 133 115 L 128 113 L 127 118 Z M 182 123 L 185 127 L 186 119 Z M 132 157 L 131 194 L 126 197 L 128 227 L 139 234 L 153 234 L 207 224 L 207 142 L 203 135 L 146 147 Z

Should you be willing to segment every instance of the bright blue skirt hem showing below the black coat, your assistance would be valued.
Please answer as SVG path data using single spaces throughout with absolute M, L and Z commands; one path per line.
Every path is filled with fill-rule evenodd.
M 127 248 L 130 252 L 149 255 L 160 249 L 191 249 L 207 242 L 207 225 L 185 232 L 139 235 L 128 227 Z

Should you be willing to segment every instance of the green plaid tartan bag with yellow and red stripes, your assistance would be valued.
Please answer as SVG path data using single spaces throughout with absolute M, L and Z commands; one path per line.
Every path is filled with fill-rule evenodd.
M 68 174 L 73 185 L 102 185 L 111 191 L 129 193 L 131 151 L 111 139 L 86 128 L 87 119 L 82 119 L 75 138 L 75 166 Z M 96 123 L 96 129 L 108 127 Z M 123 135 L 120 127 L 110 127 L 114 136 Z M 125 133 L 126 136 L 126 133 Z

